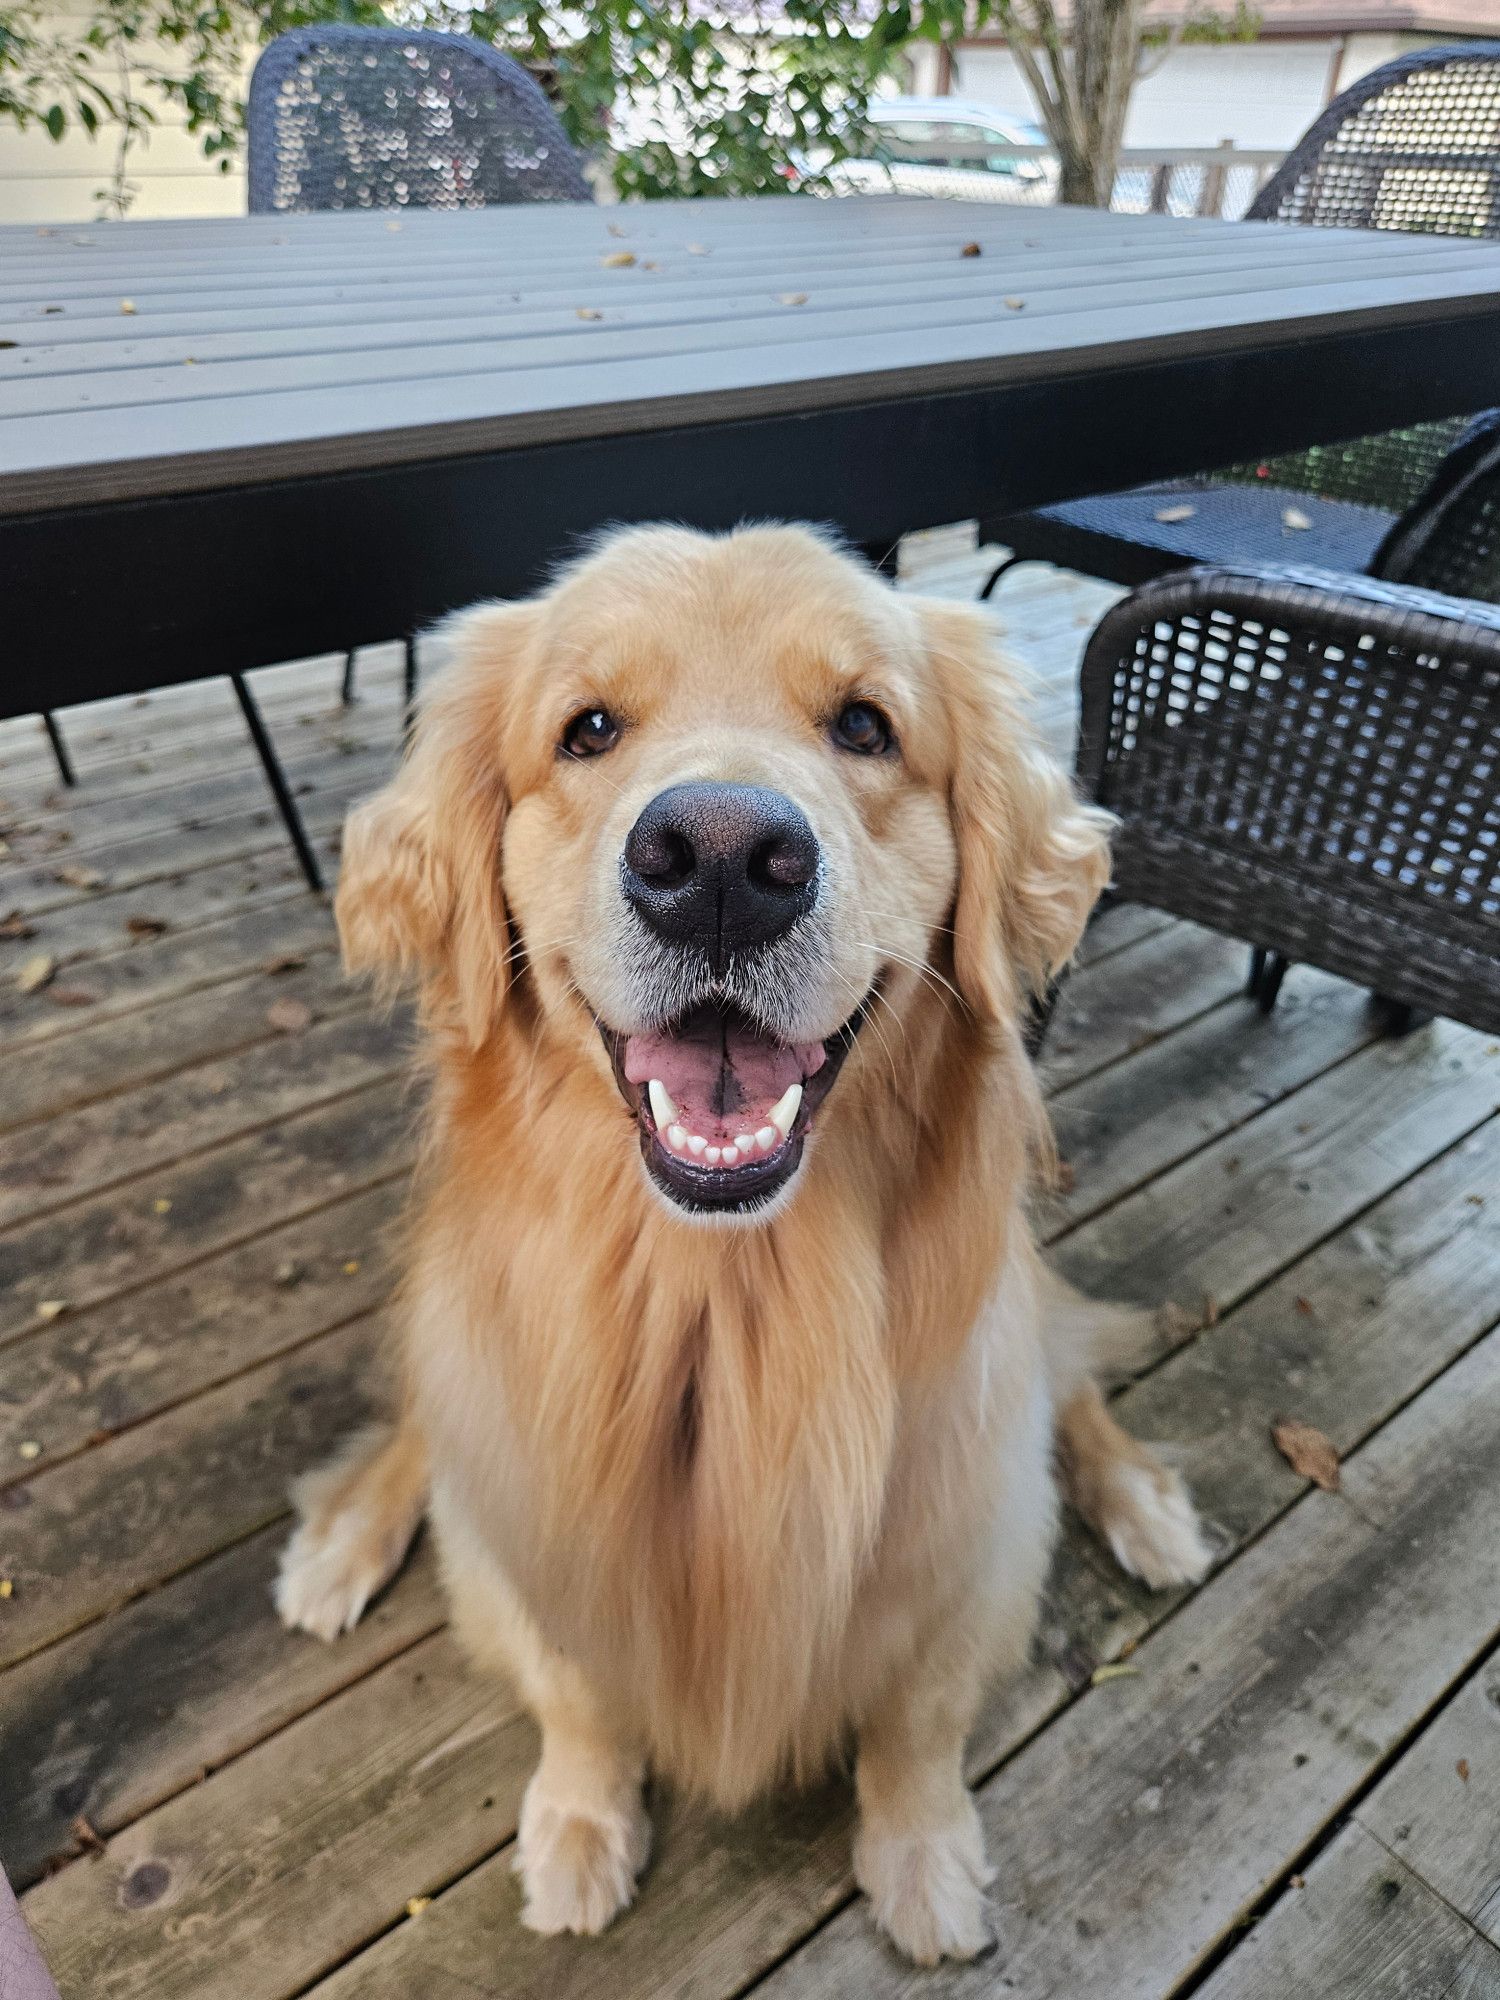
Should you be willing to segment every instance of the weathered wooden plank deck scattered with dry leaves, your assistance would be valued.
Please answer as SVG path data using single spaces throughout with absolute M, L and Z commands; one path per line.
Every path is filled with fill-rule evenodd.
M 1108 598 L 1002 588 L 1060 742 Z M 332 860 L 396 658 L 348 712 L 336 662 L 260 686 Z M 1046 1234 L 1088 1290 L 1174 1302 L 1120 1414 L 1174 1440 L 1212 1578 L 1150 1596 L 1068 1536 L 972 1744 L 984 1964 L 876 1942 L 836 1784 L 736 1822 L 658 1798 L 636 1908 L 540 1942 L 532 1730 L 460 1664 L 430 1554 L 338 1646 L 268 1602 L 288 1478 L 380 1400 L 400 1026 L 342 984 L 226 686 L 68 734 L 60 798 L 40 728 L 0 726 L 0 918 L 34 932 L 0 940 L 0 1856 L 64 2000 L 1500 1996 L 1500 1044 L 1382 1042 L 1308 970 L 1262 1020 L 1238 946 L 1096 924 Z

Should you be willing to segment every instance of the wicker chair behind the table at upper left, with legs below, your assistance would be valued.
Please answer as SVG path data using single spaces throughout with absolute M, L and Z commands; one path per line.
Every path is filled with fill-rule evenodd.
M 498 50 L 432 28 L 294 28 L 268 44 L 246 104 L 250 212 L 490 208 L 592 202 L 578 156 L 536 82 Z M 404 716 L 416 700 L 408 634 Z M 242 676 L 250 734 L 308 882 L 302 820 Z M 354 700 L 354 652 L 340 688 Z

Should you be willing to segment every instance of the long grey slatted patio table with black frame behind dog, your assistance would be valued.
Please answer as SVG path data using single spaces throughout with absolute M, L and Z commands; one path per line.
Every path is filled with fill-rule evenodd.
M 1500 402 L 1500 244 L 900 198 L 0 230 L 0 714 L 610 520 L 908 528 Z

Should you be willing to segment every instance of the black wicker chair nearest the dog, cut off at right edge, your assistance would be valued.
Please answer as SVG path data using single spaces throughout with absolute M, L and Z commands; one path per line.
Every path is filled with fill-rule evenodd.
M 1474 426 L 1378 576 L 1196 568 L 1084 654 L 1078 774 L 1120 818 L 1114 892 L 1304 960 L 1394 1030 L 1500 1032 L 1500 422 Z M 1444 592 L 1424 588 L 1442 584 Z

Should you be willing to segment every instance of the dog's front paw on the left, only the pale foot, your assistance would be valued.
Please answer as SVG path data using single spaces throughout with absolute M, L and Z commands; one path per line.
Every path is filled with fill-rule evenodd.
M 516 1834 L 516 1872 L 526 1902 L 522 1924 L 556 1936 L 594 1936 L 636 1894 L 636 1876 L 650 1854 L 652 1826 L 638 1792 L 618 1806 L 580 1812 L 526 1788 Z

